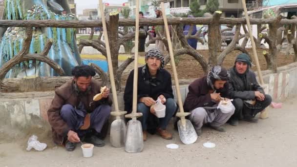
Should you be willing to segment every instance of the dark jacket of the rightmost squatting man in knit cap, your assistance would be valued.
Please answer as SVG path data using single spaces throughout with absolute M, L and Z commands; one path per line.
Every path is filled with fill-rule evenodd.
M 246 83 L 236 74 L 234 67 L 229 70 L 229 92 L 232 99 L 255 100 L 255 91 L 264 93 L 263 88 L 258 84 L 255 72 L 248 70 L 246 72 Z

